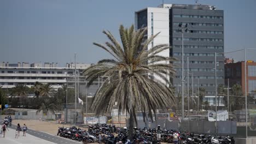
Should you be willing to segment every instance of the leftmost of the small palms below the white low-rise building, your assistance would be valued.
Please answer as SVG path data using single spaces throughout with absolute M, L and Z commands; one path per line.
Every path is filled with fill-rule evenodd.
M 21 107 L 21 105 L 22 105 L 22 107 L 24 107 L 25 102 L 23 102 L 23 104 L 22 104 L 21 101 L 26 100 L 28 92 L 30 92 L 30 88 L 28 88 L 26 85 L 17 84 L 17 85 L 15 85 L 15 87 L 11 88 L 10 95 L 15 98 L 18 97 L 19 101 L 20 101 L 19 107 Z

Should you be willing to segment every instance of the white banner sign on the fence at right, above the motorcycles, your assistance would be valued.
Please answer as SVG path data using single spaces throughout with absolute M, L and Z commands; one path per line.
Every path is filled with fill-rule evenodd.
M 226 110 L 218 110 L 217 111 L 217 121 L 226 121 L 229 119 L 229 113 Z M 212 110 L 208 110 L 208 121 L 214 122 L 216 121 L 216 112 Z

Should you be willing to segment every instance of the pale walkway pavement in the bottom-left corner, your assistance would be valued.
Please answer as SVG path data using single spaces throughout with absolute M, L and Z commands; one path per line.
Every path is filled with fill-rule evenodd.
M 20 133 L 20 136 L 18 139 L 15 139 L 15 130 L 9 129 L 5 133 L 5 137 L 0 137 L 1 143 L 14 143 L 14 144 L 21 144 L 21 143 L 37 143 L 37 144 L 54 144 L 53 142 L 49 142 L 43 139 L 40 139 L 36 136 L 32 136 L 29 134 L 26 134 L 26 136 L 22 136 L 23 132 Z

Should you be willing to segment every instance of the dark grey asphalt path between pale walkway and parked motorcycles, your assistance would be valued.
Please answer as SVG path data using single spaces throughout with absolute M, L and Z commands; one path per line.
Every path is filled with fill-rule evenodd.
M 3 121 L 0 121 L 0 123 L 2 124 Z M 16 130 L 17 125 L 12 124 L 11 127 L 8 126 L 8 128 Z M 21 125 L 21 128 L 22 128 L 22 125 Z M 57 129 L 56 129 L 56 133 L 57 133 Z M 36 136 L 40 139 L 50 141 L 50 142 L 53 142 L 53 143 L 57 143 L 57 144 L 82 143 L 82 142 L 69 140 L 69 139 L 66 139 L 66 138 L 63 138 L 63 137 L 60 137 L 60 136 L 54 136 L 54 135 L 51 135 L 51 134 L 47 134 L 47 133 L 44 133 L 42 131 L 32 130 L 30 128 L 28 128 L 27 134 L 30 134 L 30 135 Z M 23 135 L 23 132 L 21 132 L 20 135 Z

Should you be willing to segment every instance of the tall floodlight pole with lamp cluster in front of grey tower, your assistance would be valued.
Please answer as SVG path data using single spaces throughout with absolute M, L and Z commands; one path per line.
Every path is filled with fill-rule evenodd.
M 188 24 L 185 26 L 179 23 L 179 32 L 182 32 L 182 119 L 184 118 L 184 50 L 183 50 L 183 33 L 188 31 Z

